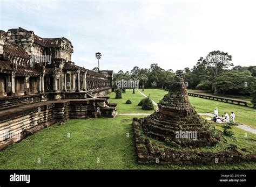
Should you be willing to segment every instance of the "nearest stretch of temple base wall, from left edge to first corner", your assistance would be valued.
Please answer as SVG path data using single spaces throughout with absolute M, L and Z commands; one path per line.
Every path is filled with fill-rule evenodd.
M 1 116 L 0 150 L 55 123 L 53 107 L 46 104 Z

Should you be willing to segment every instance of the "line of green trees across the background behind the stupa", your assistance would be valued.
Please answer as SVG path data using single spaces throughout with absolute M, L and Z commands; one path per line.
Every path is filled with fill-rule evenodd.
M 114 82 L 139 80 L 142 88 L 170 89 L 174 75 L 172 69 L 165 70 L 152 63 L 150 68 L 136 66 L 131 71 L 120 70 L 114 74 Z M 193 68 L 184 68 L 184 81 L 188 89 L 250 96 L 256 90 L 256 66 L 234 66 L 230 54 L 213 51 L 200 57 Z

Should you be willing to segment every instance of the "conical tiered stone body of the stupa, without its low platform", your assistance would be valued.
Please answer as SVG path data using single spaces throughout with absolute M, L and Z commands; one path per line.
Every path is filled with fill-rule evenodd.
M 158 107 L 158 112 L 138 120 L 147 136 L 183 147 L 214 146 L 218 142 L 220 134 L 197 114 L 188 99 L 183 71 L 176 72 L 169 93 Z

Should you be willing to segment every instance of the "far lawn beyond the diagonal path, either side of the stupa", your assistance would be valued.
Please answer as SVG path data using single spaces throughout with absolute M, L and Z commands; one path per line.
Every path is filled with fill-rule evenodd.
M 142 91 L 140 89 L 140 91 Z M 167 91 L 164 90 L 158 90 L 158 89 L 144 89 L 145 95 L 150 95 L 152 99 L 155 102 L 159 102 L 160 99 L 164 97 Z M 190 96 L 190 102 L 191 104 L 196 107 L 196 111 L 199 113 L 213 113 L 214 108 L 218 107 L 219 115 L 223 114 L 224 112 L 227 112 L 228 114 L 233 111 L 235 113 L 235 120 L 238 123 L 245 124 L 248 126 L 251 126 L 253 128 L 256 128 L 256 110 L 251 109 L 249 107 L 234 105 L 234 104 L 228 104 L 224 102 L 218 102 L 215 100 L 209 100 L 209 99 L 203 99 L 198 97 L 192 97 Z

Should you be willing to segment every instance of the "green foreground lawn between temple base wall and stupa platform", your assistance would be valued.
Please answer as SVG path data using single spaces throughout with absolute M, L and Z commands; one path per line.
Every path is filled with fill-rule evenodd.
M 0 169 L 256 169 L 255 162 L 141 166 L 137 163 L 131 123 L 131 116 L 117 116 L 53 125 L 2 150 Z M 235 138 L 228 142 L 240 141 L 249 149 L 256 141 L 251 133 L 245 139 L 244 131 L 233 131 Z

